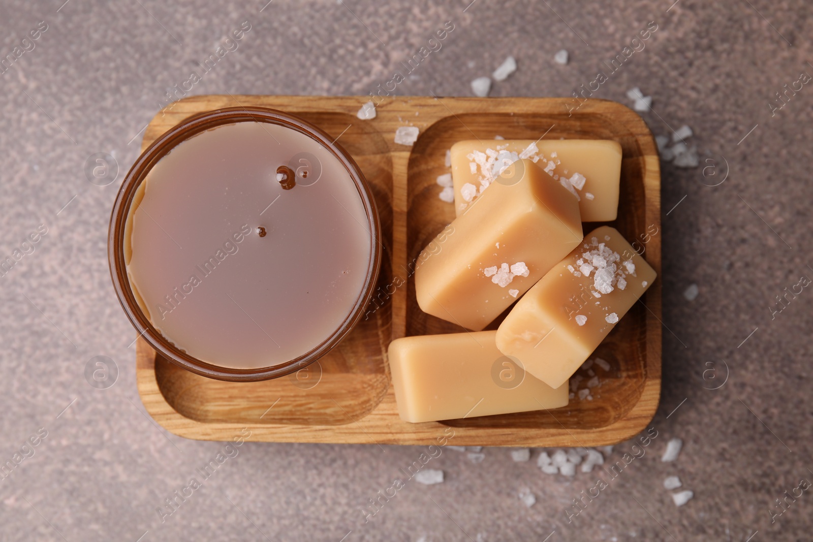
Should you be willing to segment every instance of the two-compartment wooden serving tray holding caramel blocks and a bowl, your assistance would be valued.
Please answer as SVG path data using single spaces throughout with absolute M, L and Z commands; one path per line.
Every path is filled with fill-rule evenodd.
M 593 99 L 569 115 L 569 98 L 388 97 L 376 107 L 376 119 L 359 120 L 356 112 L 368 99 L 197 96 L 170 104 L 147 126 L 142 149 L 182 119 L 220 107 L 265 106 L 299 115 L 337 137 L 359 163 L 376 197 L 385 245 L 369 318 L 305 373 L 221 382 L 172 365 L 139 339 L 138 392 L 150 415 L 168 431 L 200 440 L 232 440 L 247 429 L 248 440 L 273 442 L 437 444 L 438 437 L 454 435 L 449 442 L 459 445 L 596 446 L 644 429 L 660 396 L 661 280 L 598 347 L 596 355 L 611 370 L 595 367 L 602 385 L 593 388 L 592 400 L 576 397 L 549 411 L 406 423 L 398 418 L 386 361 L 395 338 L 463 329 L 420 310 L 408 264 L 454 219 L 454 206 L 438 198 L 435 180 L 450 171 L 444 157 L 455 141 L 543 134 L 548 140 L 618 141 L 624 152 L 620 208 L 611 225 L 628 241 L 638 240 L 635 246 L 660 275 L 659 158 L 641 117 Z M 411 147 L 394 142 L 395 130 L 407 124 L 420 128 Z M 598 225 L 585 223 L 585 233 Z

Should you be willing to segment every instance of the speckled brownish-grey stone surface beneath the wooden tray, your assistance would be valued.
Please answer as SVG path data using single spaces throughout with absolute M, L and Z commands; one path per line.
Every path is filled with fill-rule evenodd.
M 813 290 L 776 305 L 813 278 L 813 87 L 770 106 L 813 75 L 810 2 L 62 2 L 0 3 L 0 56 L 14 59 L 0 73 L 0 257 L 47 228 L 0 278 L 0 462 L 37 442 L 0 475 L 0 540 L 811 540 L 811 491 L 775 500 L 813 480 Z M 23 43 L 41 21 L 46 31 Z M 519 69 L 492 96 L 568 96 L 658 25 L 595 93 L 632 105 L 625 93 L 640 86 L 652 131 L 689 124 L 701 160 L 663 164 L 658 436 L 578 516 L 565 510 L 594 474 L 545 475 L 538 450 L 515 463 L 508 449 L 485 449 L 482 462 L 446 449 L 431 465 L 443 483 L 407 482 L 365 520 L 422 451 L 374 444 L 244 444 L 172 515 L 156 512 L 224 444 L 147 417 L 107 223 L 167 90 L 244 21 L 239 48 L 191 93 L 367 94 L 452 21 L 398 93 L 470 95 L 512 54 Z M 567 66 L 554 63 L 559 49 Z M 107 186 L 85 176 L 99 152 L 120 168 Z M 119 368 L 111 388 L 85 379 L 98 355 Z M 672 437 L 683 451 L 663 463 Z M 680 508 L 668 475 L 694 493 Z

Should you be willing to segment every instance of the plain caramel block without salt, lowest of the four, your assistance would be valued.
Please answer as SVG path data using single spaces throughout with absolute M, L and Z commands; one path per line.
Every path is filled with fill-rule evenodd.
M 497 349 L 496 333 L 393 340 L 389 369 L 401 419 L 433 422 L 567 405 L 567 384 L 554 389 L 528 375 Z

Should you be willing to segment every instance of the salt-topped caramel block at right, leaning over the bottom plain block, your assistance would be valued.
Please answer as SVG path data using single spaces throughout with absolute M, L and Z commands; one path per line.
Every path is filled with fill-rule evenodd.
M 655 271 L 615 228 L 602 226 L 511 309 L 497 346 L 558 387 L 576 372 L 655 280 Z

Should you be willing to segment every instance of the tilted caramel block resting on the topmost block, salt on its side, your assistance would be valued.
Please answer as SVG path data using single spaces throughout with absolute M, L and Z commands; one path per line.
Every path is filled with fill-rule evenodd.
M 581 238 L 576 198 L 520 160 L 420 254 L 418 305 L 480 331 Z

